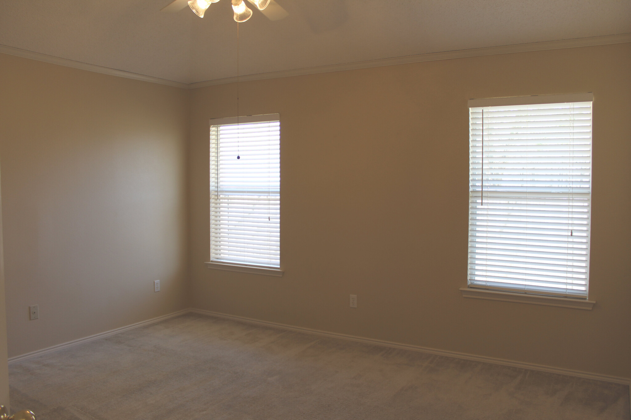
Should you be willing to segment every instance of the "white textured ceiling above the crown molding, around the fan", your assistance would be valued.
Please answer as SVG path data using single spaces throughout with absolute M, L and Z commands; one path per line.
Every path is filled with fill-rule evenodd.
M 631 32 L 631 0 L 276 0 L 240 24 L 240 74 Z M 236 76 L 230 0 L 0 0 L 0 44 L 171 81 Z

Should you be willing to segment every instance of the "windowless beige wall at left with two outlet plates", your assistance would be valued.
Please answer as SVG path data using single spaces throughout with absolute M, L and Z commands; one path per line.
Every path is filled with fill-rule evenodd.
M 9 356 L 187 307 L 188 92 L 0 55 L 0 98 Z

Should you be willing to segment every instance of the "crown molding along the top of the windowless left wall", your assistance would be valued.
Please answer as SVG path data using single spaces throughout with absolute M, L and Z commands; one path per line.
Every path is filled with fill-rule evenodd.
M 160 77 L 145 76 L 144 74 L 138 74 L 123 70 L 110 69 L 109 67 L 103 67 L 96 64 L 88 64 L 80 61 L 74 61 L 69 59 L 62 59 L 61 57 L 55 57 L 54 55 L 41 54 L 39 52 L 33 52 L 29 50 L 23 50 L 21 48 L 9 47 L 8 45 L 0 44 L 0 53 L 16 55 L 17 57 L 23 57 L 25 59 L 43 61 L 50 64 L 64 65 L 66 67 L 73 67 L 73 69 L 87 70 L 95 73 L 108 74 L 109 76 L 126 77 L 127 79 L 135 79 L 143 82 L 151 82 L 158 84 L 165 84 L 167 86 L 174 86 L 175 88 L 188 89 L 187 83 L 175 82 L 167 79 L 160 79 Z

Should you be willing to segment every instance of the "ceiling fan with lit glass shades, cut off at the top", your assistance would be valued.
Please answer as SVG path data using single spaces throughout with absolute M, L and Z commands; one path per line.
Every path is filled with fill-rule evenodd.
M 217 3 L 218 1 L 219 0 L 175 0 L 162 8 L 161 11 L 174 13 L 186 8 L 188 5 L 195 14 L 203 18 L 206 9 L 208 9 L 211 4 Z M 281 20 L 289 15 L 289 13 L 274 0 L 247 1 L 259 9 L 269 20 Z M 235 13 L 234 20 L 237 22 L 245 22 L 252 16 L 252 10 L 245 5 L 244 0 L 232 0 L 232 9 Z

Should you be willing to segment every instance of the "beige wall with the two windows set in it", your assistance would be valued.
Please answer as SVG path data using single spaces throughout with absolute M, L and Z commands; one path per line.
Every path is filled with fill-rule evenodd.
M 208 119 L 191 93 L 194 307 L 430 348 L 630 377 L 631 45 L 244 82 L 281 115 L 282 278 L 208 270 Z M 469 98 L 594 93 L 593 310 L 463 298 Z M 348 295 L 358 295 L 358 309 Z

